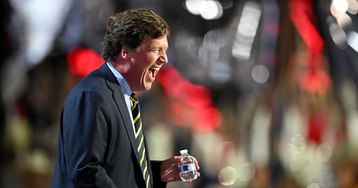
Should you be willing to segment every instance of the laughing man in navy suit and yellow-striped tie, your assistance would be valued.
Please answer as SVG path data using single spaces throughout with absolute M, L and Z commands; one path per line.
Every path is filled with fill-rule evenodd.
M 151 10 L 111 16 L 102 43 L 106 63 L 79 82 L 64 102 L 52 187 L 156 188 L 180 180 L 181 157 L 149 160 L 132 92 L 149 90 L 168 62 L 168 34 L 168 25 Z

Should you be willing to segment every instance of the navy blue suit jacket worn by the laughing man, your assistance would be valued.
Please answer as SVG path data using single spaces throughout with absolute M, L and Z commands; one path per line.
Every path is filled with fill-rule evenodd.
M 146 156 L 151 187 L 165 187 L 160 161 L 150 161 L 147 148 Z M 51 187 L 146 187 L 139 160 L 121 86 L 104 63 L 64 102 Z

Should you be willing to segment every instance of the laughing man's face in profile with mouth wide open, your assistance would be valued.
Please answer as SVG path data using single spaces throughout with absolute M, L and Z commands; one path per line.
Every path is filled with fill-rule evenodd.
M 145 39 L 138 52 L 129 53 L 132 62 L 129 78 L 126 78 L 133 91 L 146 91 L 152 86 L 160 67 L 168 62 L 166 36 L 158 39 Z

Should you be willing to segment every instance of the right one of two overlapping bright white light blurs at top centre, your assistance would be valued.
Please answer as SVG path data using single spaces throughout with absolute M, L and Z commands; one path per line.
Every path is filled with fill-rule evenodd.
M 199 5 L 200 15 L 206 20 L 218 19 L 223 14 L 223 8 L 219 1 L 205 0 Z

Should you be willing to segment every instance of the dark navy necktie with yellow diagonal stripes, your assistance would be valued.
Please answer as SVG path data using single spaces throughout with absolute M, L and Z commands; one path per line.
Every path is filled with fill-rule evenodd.
M 145 155 L 144 135 L 143 135 L 143 129 L 142 129 L 142 121 L 140 119 L 139 102 L 138 102 L 138 98 L 134 92 L 132 92 L 130 99 L 133 103 L 132 116 L 133 116 L 135 132 L 136 132 L 135 140 L 136 140 L 137 150 L 138 150 L 139 159 L 140 159 L 140 166 L 142 169 L 144 181 L 148 188 L 148 187 L 150 187 L 150 183 L 149 183 L 150 177 L 149 177 L 149 172 L 147 170 L 147 158 Z

